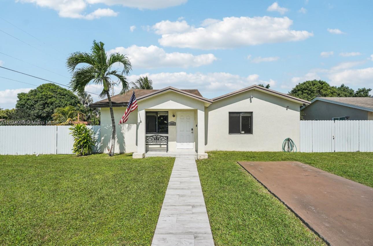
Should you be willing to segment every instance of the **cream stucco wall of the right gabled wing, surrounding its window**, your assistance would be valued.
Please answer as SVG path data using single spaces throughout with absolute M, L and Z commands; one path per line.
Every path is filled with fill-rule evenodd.
M 206 108 L 205 149 L 282 151 L 283 140 L 288 137 L 299 146 L 299 111 L 299 103 L 259 90 L 213 102 Z M 229 112 L 253 112 L 253 134 L 228 134 Z

